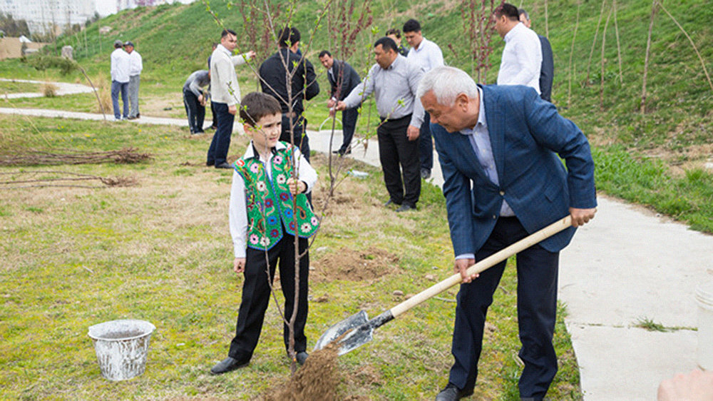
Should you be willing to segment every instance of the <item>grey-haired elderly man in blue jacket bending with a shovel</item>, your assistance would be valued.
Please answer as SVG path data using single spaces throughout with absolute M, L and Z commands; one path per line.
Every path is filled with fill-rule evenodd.
M 454 268 L 463 276 L 451 345 L 455 363 L 436 400 L 473 393 L 486 313 L 506 262 L 471 277 L 466 269 L 565 215 L 573 218 L 573 227 L 517 255 L 519 355 L 525 362 L 520 397 L 541 400 L 557 372 L 552 338 L 559 251 L 596 212 L 587 138 L 533 88 L 478 86 L 458 68 L 426 73 L 417 96 L 431 114 Z

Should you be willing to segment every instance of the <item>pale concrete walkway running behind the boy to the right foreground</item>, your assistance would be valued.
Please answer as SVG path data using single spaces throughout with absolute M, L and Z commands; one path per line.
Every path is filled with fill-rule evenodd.
M 0 108 L 0 113 L 101 120 L 67 111 Z M 120 123 L 188 126 L 175 118 Z M 236 127 L 240 124 L 235 124 Z M 309 132 L 314 151 L 329 151 L 329 131 Z M 341 133 L 332 149 L 342 143 Z M 378 146 L 356 144 L 347 156 L 379 166 Z M 429 182 L 442 186 L 438 158 Z M 620 200 L 600 197 L 595 219 L 560 258 L 559 299 L 567 305 L 585 400 L 655 400 L 658 384 L 697 367 L 694 291 L 713 281 L 713 236 L 688 230 Z M 445 222 L 443 222 L 445 224 Z M 650 320 L 666 332 L 638 328 Z

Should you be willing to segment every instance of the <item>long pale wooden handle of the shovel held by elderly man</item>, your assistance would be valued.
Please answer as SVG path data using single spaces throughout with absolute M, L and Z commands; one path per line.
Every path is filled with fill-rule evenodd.
M 535 233 L 528 235 L 527 237 L 519 240 L 518 242 L 513 243 L 507 248 L 493 253 L 493 255 L 488 256 L 488 258 L 485 258 L 480 262 L 476 263 L 475 265 L 472 265 L 470 268 L 468 268 L 468 270 L 466 270 L 466 273 L 468 273 L 468 275 L 481 273 L 484 270 L 493 267 L 493 265 L 497 265 L 503 260 L 510 258 L 512 255 L 515 255 L 515 253 L 530 248 L 530 246 L 539 243 L 545 238 L 550 238 L 552 235 L 559 233 L 560 231 L 570 227 L 571 225 L 572 216 L 568 215 L 567 217 L 548 225 L 542 230 L 536 231 Z M 462 282 L 463 278 L 461 278 L 461 273 L 451 275 L 451 277 L 446 278 L 446 280 L 441 281 L 441 283 L 437 283 L 432 287 L 427 288 L 426 290 L 423 290 L 420 293 L 414 295 L 413 297 L 405 300 L 404 302 L 399 303 L 399 305 L 394 306 L 394 308 L 391 308 L 391 315 L 396 318 L 396 316 L 401 315 L 401 313 L 406 312 L 406 310 L 414 308 L 414 306 L 419 305 L 419 303 L 422 303 L 425 300 L 428 300 L 429 298 L 432 298 L 442 293 L 443 291 L 448 290 L 448 288 L 453 287 L 453 285 Z

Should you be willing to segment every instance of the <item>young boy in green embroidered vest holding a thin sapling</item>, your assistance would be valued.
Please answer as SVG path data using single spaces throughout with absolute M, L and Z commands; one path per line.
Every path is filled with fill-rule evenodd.
M 265 93 L 248 93 L 240 103 L 240 118 L 252 138 L 245 155 L 235 162 L 230 192 L 230 235 L 235 248 L 233 270 L 245 273 L 235 338 L 228 357 L 212 367 L 214 375 L 247 366 L 260 338 L 262 321 L 270 301 L 270 283 L 279 263 L 284 318 L 294 308 L 294 235 L 299 237 L 299 304 L 294 321 L 294 351 L 300 365 L 307 359 L 307 238 L 319 226 L 304 193 L 312 190 L 317 173 L 289 143 L 279 142 L 282 111 L 277 100 Z M 294 156 L 294 159 L 293 159 Z M 296 163 L 294 165 L 293 163 Z M 292 172 L 297 168 L 297 180 Z M 297 208 L 293 207 L 293 197 Z M 295 216 L 297 219 L 295 220 Z M 246 250 L 247 245 L 247 250 Z M 270 268 L 270 278 L 267 268 Z M 270 280 L 270 283 L 268 283 Z M 289 329 L 284 325 L 284 345 Z

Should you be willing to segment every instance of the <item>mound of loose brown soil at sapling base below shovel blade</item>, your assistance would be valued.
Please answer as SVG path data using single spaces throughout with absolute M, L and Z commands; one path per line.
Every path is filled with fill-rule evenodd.
M 312 352 L 287 382 L 272 387 L 257 397 L 257 400 L 336 400 L 340 377 L 337 370 L 337 347 L 334 344 L 332 342 L 332 345 Z

